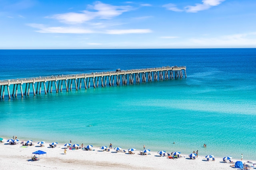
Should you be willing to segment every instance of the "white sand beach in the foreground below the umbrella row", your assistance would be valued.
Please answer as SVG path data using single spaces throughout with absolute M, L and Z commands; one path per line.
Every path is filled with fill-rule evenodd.
M 156 152 L 150 152 L 150 155 L 140 155 L 140 150 L 135 150 L 133 151 L 135 154 L 128 154 L 127 152 L 115 152 L 114 149 L 106 152 L 100 150 L 99 147 L 93 147 L 93 151 L 67 149 L 65 155 L 64 144 L 58 144 L 55 148 L 48 148 L 49 143 L 45 143 L 45 147 L 40 147 L 39 144 L 34 142 L 34 146 L 22 148 L 22 144 L 9 145 L 5 139 L 4 141 L 4 143 L 0 143 L 0 169 L 234 169 L 230 167 L 231 164 L 223 163 L 222 158 L 216 158 L 215 161 L 206 161 L 204 156 L 198 156 L 195 160 L 191 160 L 188 155 L 182 155 L 185 157 L 173 160 L 167 157 L 160 157 Z M 127 149 L 125 148 L 125 150 Z M 32 152 L 37 150 L 47 152 L 47 157 L 44 154 L 40 155 L 40 160 L 31 161 Z M 243 162 L 246 162 L 246 160 L 243 160 Z

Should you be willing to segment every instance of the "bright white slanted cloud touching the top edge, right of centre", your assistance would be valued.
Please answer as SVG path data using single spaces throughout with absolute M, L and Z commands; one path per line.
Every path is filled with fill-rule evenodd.
M 196 4 L 196 6 L 186 6 L 185 10 L 186 12 L 198 12 L 198 11 L 202 11 L 202 10 L 207 10 L 209 8 L 211 8 L 212 6 L 217 6 L 219 5 L 221 2 L 223 2 L 225 0 L 202 0 L 202 4 Z

